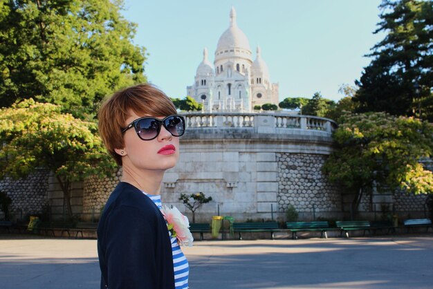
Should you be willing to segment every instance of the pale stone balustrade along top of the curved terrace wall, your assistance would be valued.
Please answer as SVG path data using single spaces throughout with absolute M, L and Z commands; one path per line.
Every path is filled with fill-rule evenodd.
M 333 120 L 311 115 L 288 113 L 183 113 L 187 128 L 253 128 L 256 132 L 275 129 L 304 129 L 332 133 L 337 127 Z

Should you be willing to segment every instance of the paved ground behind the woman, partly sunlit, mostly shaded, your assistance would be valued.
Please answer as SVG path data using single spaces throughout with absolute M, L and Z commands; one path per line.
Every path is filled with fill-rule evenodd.
M 196 241 L 190 288 L 433 288 L 433 236 Z M 95 240 L 0 234 L 0 288 L 99 288 Z

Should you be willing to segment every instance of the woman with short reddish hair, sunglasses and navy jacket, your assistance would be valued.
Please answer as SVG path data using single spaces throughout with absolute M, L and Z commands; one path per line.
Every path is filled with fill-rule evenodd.
M 161 181 L 178 160 L 185 120 L 151 84 L 118 91 L 98 119 L 123 171 L 98 225 L 101 288 L 187 288 L 187 260 L 160 212 Z

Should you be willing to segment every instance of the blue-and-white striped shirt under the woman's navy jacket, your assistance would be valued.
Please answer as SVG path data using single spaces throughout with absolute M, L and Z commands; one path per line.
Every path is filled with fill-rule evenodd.
M 148 196 L 152 201 L 154 201 L 155 205 L 159 209 L 163 207 L 163 203 L 161 202 L 160 195 L 149 195 L 146 194 L 145 192 L 143 193 L 146 196 Z M 181 246 L 177 242 L 177 238 L 172 237 L 171 232 L 169 232 L 169 236 L 170 236 L 170 241 L 172 241 L 174 286 L 176 289 L 185 289 L 188 288 L 188 276 L 190 274 L 190 266 L 188 265 L 188 261 L 181 250 Z

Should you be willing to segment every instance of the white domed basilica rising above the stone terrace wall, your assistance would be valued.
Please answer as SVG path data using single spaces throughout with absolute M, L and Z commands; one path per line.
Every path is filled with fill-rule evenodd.
M 214 63 L 203 51 L 194 84 L 187 95 L 203 104 L 203 111 L 250 112 L 256 105 L 278 104 L 278 84 L 271 83 L 268 66 L 257 46 L 256 58 L 246 35 L 237 26 L 236 11 L 230 11 L 230 26 L 219 38 Z

